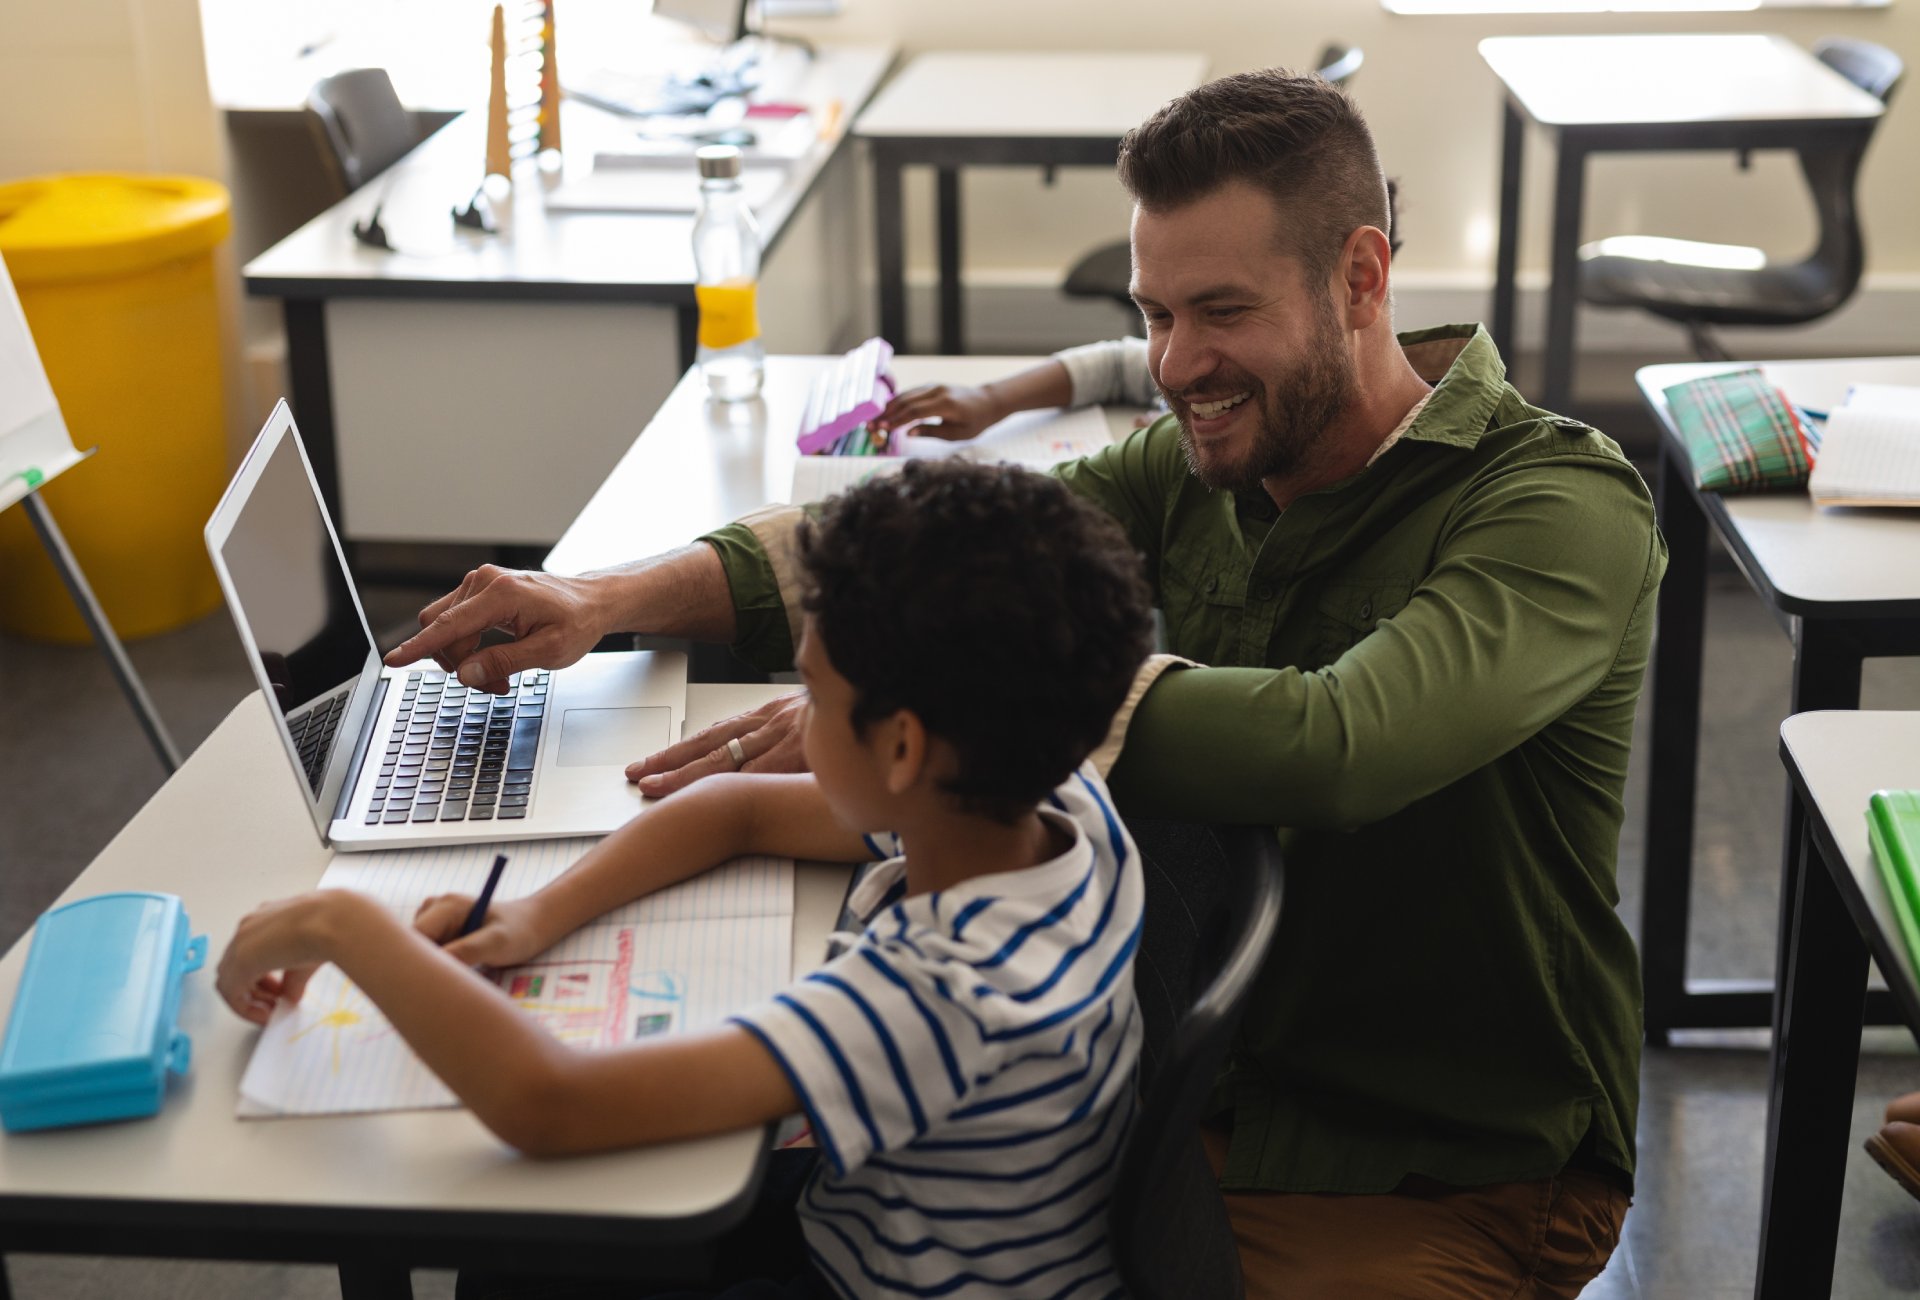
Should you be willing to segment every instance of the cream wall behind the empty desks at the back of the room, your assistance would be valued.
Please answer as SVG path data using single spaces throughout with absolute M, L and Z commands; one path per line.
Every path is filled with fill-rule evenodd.
M 1377 0 L 847 0 L 837 19 L 785 23 L 816 38 L 895 40 L 904 54 L 931 48 L 1200 50 L 1213 75 L 1269 63 L 1311 65 L 1332 38 L 1359 44 L 1367 63 L 1354 81 L 1388 175 L 1402 182 L 1405 248 L 1398 261 L 1402 301 L 1446 313 L 1484 301 L 1492 284 L 1500 184 L 1500 90 L 1475 46 L 1494 35 L 1620 31 L 1778 31 L 1803 46 L 1824 35 L 1878 40 L 1920 77 L 1920 0 L 1889 10 L 1763 13 L 1402 17 Z M 1910 311 L 1908 344 L 1920 346 L 1920 106 L 1914 86 L 1895 96 L 1860 177 L 1868 238 L 1868 288 L 1893 290 Z M 1523 284 L 1544 277 L 1551 154 L 1534 136 L 1526 152 Z M 910 179 L 912 271 L 931 275 L 931 181 Z M 970 173 L 964 186 L 966 267 L 973 284 L 1050 282 L 1102 236 L 1121 236 L 1127 204 L 1110 173 L 1062 171 L 1048 190 L 1033 169 Z M 1588 173 L 1586 232 L 1672 234 L 1757 244 L 1801 253 L 1814 219 L 1789 156 L 1759 156 L 1740 173 L 1728 154 L 1599 157 Z M 1404 313 L 1405 315 L 1405 313 Z M 1478 315 L 1478 311 L 1473 311 Z M 1615 313 L 1613 319 L 1624 323 Z M 1640 317 L 1644 321 L 1644 317 Z M 1644 328 L 1624 326 L 1622 328 Z M 1855 323 L 1855 336 L 1878 325 Z M 1845 332 L 1845 330 L 1843 330 Z M 1603 342 L 1605 330 L 1590 342 Z M 1676 334 L 1678 338 L 1678 334 Z

